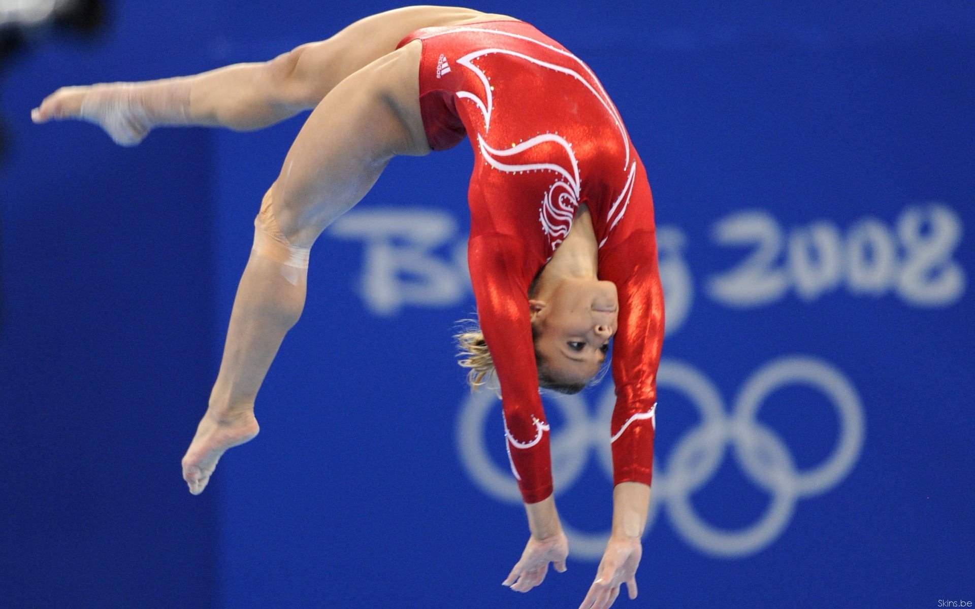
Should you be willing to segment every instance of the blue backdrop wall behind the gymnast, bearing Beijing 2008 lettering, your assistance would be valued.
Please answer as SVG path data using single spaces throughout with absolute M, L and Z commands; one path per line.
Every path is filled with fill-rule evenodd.
M 449 334 L 466 147 L 400 159 L 315 247 L 262 433 L 191 497 L 250 227 L 300 127 L 135 149 L 35 127 L 65 84 L 273 57 L 396 3 L 119 2 L 3 66 L 0 606 L 550 607 L 592 582 L 611 383 L 546 399 L 565 575 L 526 539 L 489 395 Z M 600 75 L 656 201 L 668 338 L 641 596 L 621 606 L 975 600 L 975 11 L 515 2 Z M 754 417 L 749 408 L 758 408 Z

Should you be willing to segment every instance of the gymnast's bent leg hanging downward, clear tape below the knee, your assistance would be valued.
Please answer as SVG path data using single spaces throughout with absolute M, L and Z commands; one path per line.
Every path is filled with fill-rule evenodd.
M 339 83 L 298 133 L 265 195 L 209 407 L 182 460 L 191 493 L 203 491 L 224 451 L 257 434 L 254 399 L 304 305 L 312 244 L 366 195 L 393 156 L 429 152 L 419 59 L 420 43 L 412 42 Z

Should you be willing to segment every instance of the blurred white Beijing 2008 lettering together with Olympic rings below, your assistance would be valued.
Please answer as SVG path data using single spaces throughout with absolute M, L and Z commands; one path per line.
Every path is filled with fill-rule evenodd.
M 339 218 L 329 234 L 365 246 L 359 294 L 371 313 L 393 317 L 408 306 L 452 307 L 471 297 L 460 224 L 439 209 L 367 209 Z M 932 309 L 955 304 L 966 288 L 955 259 L 961 220 L 942 203 L 906 206 L 890 221 L 864 216 L 845 226 L 818 220 L 790 227 L 763 209 L 732 212 L 712 224 L 709 237 L 711 246 L 735 248 L 733 255 L 720 256 L 730 267 L 704 274 L 699 286 L 683 256 L 688 244 L 683 230 L 662 225 L 657 234 L 669 335 L 688 319 L 698 292 L 738 310 L 788 298 L 815 302 L 838 291 L 851 298 L 894 297 L 906 307 Z M 546 407 L 558 409 L 563 420 L 553 426 L 551 439 L 557 494 L 572 487 L 594 455 L 611 479 L 614 396 L 611 382 L 606 385 L 595 410 L 579 395 L 546 397 Z M 856 387 L 836 365 L 813 355 L 765 362 L 727 403 L 708 374 L 689 362 L 665 357 L 658 386 L 681 394 L 700 421 L 669 454 L 658 455 L 666 458 L 656 463 L 666 467 L 655 466 L 646 530 L 666 510 L 683 540 L 710 555 L 742 557 L 768 547 L 789 525 L 800 500 L 828 492 L 849 474 L 864 444 L 864 407 Z M 795 386 L 819 394 L 839 420 L 829 456 L 805 469 L 797 467 L 789 444 L 758 417 L 771 394 Z M 499 402 L 489 391 L 460 400 L 457 453 L 487 496 L 518 504 L 521 496 L 507 464 L 493 460 L 486 445 L 487 414 L 495 408 Z M 590 416 L 591 411 L 596 415 Z M 742 529 L 708 522 L 690 500 L 719 475 L 727 459 L 770 497 L 763 514 Z M 608 531 L 587 534 L 564 524 L 573 555 L 599 560 Z

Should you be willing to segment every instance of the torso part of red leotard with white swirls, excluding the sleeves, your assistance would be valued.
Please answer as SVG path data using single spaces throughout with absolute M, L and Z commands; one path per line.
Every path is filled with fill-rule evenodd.
M 511 19 L 427 27 L 399 46 L 413 40 L 423 45 L 420 112 L 430 147 L 446 150 L 471 138 L 472 235 L 527 238 L 530 253 L 544 261 L 580 204 L 593 212 L 603 243 L 611 230 L 622 231 L 613 203 L 643 168 L 618 111 L 582 60 Z M 642 223 L 652 226 L 651 218 Z

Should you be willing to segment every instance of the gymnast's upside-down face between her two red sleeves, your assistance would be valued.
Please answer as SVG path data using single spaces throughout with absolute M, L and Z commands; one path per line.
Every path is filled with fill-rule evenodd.
M 545 370 L 566 383 L 588 383 L 606 359 L 616 333 L 616 285 L 563 280 L 547 301 L 529 300 L 535 353 Z

